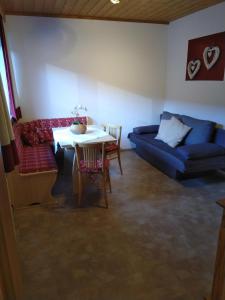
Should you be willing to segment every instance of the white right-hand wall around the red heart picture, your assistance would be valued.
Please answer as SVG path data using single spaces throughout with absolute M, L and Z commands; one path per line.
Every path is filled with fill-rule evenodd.
M 225 81 L 185 81 L 188 40 L 225 31 L 225 3 L 170 23 L 164 109 L 225 125 Z

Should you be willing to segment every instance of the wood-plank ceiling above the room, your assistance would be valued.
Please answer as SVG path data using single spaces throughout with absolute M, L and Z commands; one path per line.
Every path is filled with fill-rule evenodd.
M 5 14 L 167 24 L 224 0 L 0 0 Z

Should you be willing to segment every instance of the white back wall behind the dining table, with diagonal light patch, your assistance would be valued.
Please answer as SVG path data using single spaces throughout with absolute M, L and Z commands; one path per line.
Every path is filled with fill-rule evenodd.
M 23 120 L 71 116 L 94 123 L 158 123 L 165 98 L 165 25 L 8 16 L 6 30 Z

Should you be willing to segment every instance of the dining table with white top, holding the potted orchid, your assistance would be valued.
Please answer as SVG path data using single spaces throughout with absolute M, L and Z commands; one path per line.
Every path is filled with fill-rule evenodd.
M 55 153 L 58 148 L 71 149 L 75 148 L 76 144 L 80 143 L 110 143 L 116 142 L 116 138 L 108 134 L 102 128 L 96 125 L 87 125 L 87 131 L 84 134 L 75 134 L 70 130 L 70 127 L 52 128 Z M 76 154 L 74 151 L 73 166 L 72 166 L 72 180 L 73 191 L 76 194 Z

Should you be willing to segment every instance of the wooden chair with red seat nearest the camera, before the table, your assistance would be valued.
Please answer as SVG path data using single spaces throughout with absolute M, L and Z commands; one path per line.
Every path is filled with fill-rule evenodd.
M 95 177 L 101 175 L 105 205 L 106 208 L 108 208 L 106 185 L 109 185 L 111 192 L 111 181 L 109 175 L 109 160 L 105 158 L 105 144 L 76 144 L 75 153 L 78 176 L 78 204 L 80 205 L 82 200 L 83 176 L 88 176 L 92 182 L 94 182 Z

